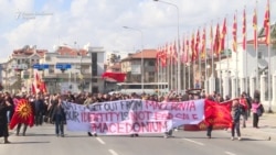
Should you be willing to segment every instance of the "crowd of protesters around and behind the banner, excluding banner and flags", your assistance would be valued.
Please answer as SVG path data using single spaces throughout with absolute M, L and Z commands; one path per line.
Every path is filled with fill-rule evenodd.
M 125 100 L 125 99 L 142 99 L 142 100 L 152 100 L 158 102 L 168 102 L 168 101 L 188 101 L 194 99 L 209 99 L 221 103 L 223 101 L 230 100 L 230 97 L 226 96 L 223 98 L 220 93 L 213 92 L 212 95 L 206 95 L 203 91 L 192 91 L 178 95 L 171 91 L 169 95 L 159 96 L 159 95 L 124 95 L 124 93 L 72 93 L 68 91 L 65 95 L 54 93 L 54 95 L 10 95 L 9 92 L 0 92 L 0 137 L 4 137 L 4 143 L 10 143 L 8 141 L 9 132 L 8 132 L 8 123 L 11 120 L 11 117 L 14 112 L 14 107 L 17 106 L 17 101 L 21 98 L 28 99 L 32 106 L 33 114 L 34 114 L 34 124 L 42 125 L 45 123 L 55 124 L 55 134 L 56 136 L 64 136 L 64 123 L 66 123 L 65 112 L 62 108 L 62 101 L 68 101 L 77 104 L 93 104 L 105 101 L 115 101 L 115 100 Z M 236 104 L 238 104 L 238 110 Z M 231 114 L 233 119 L 234 125 L 232 126 L 232 140 L 234 140 L 234 131 L 236 131 L 238 140 L 241 140 L 240 132 L 240 117 L 242 117 L 242 125 L 246 128 L 245 121 L 248 117 L 251 117 L 251 112 L 253 112 L 253 126 L 258 128 L 258 109 L 262 107 L 259 101 L 259 92 L 256 91 L 254 98 L 252 99 L 247 93 L 243 92 L 241 98 L 236 99 L 235 103 L 232 107 Z M 20 129 L 23 126 L 22 135 L 25 135 L 26 124 L 18 124 L 15 135 L 20 135 Z M 208 126 L 208 137 L 211 139 L 212 126 Z M 96 133 L 88 132 L 89 136 L 97 136 Z M 172 130 L 164 134 L 164 137 L 171 136 Z M 138 136 L 138 134 L 131 134 L 131 136 Z

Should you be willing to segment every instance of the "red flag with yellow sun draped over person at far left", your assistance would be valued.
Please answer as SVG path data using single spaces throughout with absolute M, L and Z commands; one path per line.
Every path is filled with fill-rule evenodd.
M 29 126 L 33 126 L 33 110 L 31 103 L 26 99 L 20 99 L 18 101 L 15 111 L 10 122 L 10 129 L 12 130 L 18 123 L 24 123 Z

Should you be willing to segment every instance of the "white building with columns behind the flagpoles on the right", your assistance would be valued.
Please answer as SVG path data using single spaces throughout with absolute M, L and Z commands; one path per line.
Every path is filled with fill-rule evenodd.
M 259 90 L 266 110 L 276 110 L 276 49 L 273 45 L 267 46 L 259 38 L 255 49 L 253 41 L 247 41 L 246 51 L 238 44 L 236 53 L 232 52 L 231 57 L 216 62 L 215 66 L 221 82 L 213 78 L 209 81 L 221 85 L 223 97 L 236 98 L 244 91 L 253 97 L 254 91 Z

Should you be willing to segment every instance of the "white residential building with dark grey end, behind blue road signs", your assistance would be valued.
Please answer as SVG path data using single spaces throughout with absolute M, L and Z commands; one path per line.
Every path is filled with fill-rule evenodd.
M 40 64 L 49 64 L 49 69 L 41 74 L 49 92 L 104 91 L 104 79 L 100 76 L 104 73 L 103 47 L 76 49 L 59 46 L 55 52 L 45 54 Z

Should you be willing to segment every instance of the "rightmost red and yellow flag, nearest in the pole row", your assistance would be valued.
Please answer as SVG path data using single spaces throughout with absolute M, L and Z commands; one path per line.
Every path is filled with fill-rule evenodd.
M 265 29 L 265 43 L 268 46 L 270 42 L 270 10 L 269 10 L 269 0 L 267 0 L 265 19 L 264 19 L 264 29 Z

